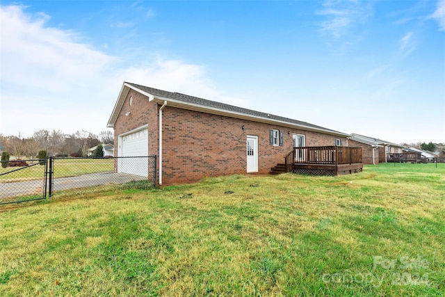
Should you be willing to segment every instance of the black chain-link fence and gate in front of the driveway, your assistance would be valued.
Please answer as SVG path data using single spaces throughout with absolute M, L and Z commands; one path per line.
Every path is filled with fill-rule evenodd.
M 57 191 L 147 181 L 156 186 L 156 155 L 15 160 L 0 168 L 0 205 L 43 200 Z M 15 168 L 17 167 L 17 169 Z M 136 174 L 135 174 L 136 173 Z

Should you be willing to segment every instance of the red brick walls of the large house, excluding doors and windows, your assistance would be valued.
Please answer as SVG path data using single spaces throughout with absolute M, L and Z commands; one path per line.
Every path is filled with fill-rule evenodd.
M 129 97 L 132 105 L 129 106 Z M 159 156 L 159 108 L 145 95 L 129 91 L 115 122 L 115 156 L 118 156 L 118 136 L 148 125 L 149 154 Z M 131 111 L 129 116 L 125 113 Z M 242 126 L 245 129 L 241 129 Z M 269 130 L 284 131 L 284 145 L 269 145 Z M 289 132 L 289 133 L 288 133 Z M 267 174 L 291 152 L 293 134 L 305 134 L 307 146 L 335 145 L 340 138 L 312 131 L 290 129 L 259 122 L 250 122 L 222 115 L 165 106 L 163 109 L 163 185 L 196 182 L 203 177 L 246 174 L 246 138 L 258 136 L 259 174 Z M 158 158 L 159 160 L 159 158 Z M 157 164 L 159 168 L 159 163 Z

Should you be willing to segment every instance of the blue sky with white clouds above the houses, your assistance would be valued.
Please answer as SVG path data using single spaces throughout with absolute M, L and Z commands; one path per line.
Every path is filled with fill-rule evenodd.
M 99 134 L 123 81 L 445 143 L 445 0 L 1 0 L 0 133 Z

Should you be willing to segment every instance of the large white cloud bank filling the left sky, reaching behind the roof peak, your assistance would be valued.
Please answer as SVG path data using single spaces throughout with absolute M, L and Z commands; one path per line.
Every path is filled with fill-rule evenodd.
M 98 134 L 106 129 L 123 81 L 236 100 L 218 92 L 200 65 L 161 56 L 127 61 L 79 42 L 82 36 L 74 31 L 48 26 L 47 15 L 30 15 L 23 6 L 0 6 L 0 13 L 1 134 L 31 136 L 38 129 Z

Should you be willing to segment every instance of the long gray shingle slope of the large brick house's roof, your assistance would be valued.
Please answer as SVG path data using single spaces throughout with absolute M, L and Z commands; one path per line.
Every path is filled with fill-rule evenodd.
M 335 131 L 332 129 L 327 129 L 325 127 L 313 125 L 313 124 L 310 124 L 309 122 L 302 122 L 299 120 L 293 120 L 291 118 L 284 118 L 279 115 L 262 113 L 260 111 L 252 111 L 251 109 L 243 109 L 242 107 L 224 104 L 221 102 L 211 101 L 211 100 L 207 100 L 207 99 L 202 99 L 199 97 L 193 97 L 193 96 L 185 95 L 185 94 L 181 94 L 181 93 L 176 93 L 176 92 L 171 93 L 171 92 L 168 92 L 165 90 L 159 90 L 156 88 L 149 88 L 147 86 L 141 86 L 136 83 L 129 83 L 129 82 L 127 82 L 127 83 L 129 85 L 133 86 L 134 88 L 138 88 L 139 90 L 142 90 L 143 92 L 148 93 L 150 95 L 154 95 L 155 97 L 163 97 L 166 99 L 173 99 L 173 100 L 177 100 L 177 101 L 188 103 L 188 104 L 196 104 L 199 106 L 205 106 L 205 107 L 209 107 L 209 108 L 213 108 L 213 109 L 220 109 L 220 110 L 231 111 L 231 112 L 235 112 L 235 113 L 243 113 L 245 115 L 253 115 L 253 116 L 256 116 L 259 118 L 277 120 L 277 121 L 281 121 L 281 122 L 288 122 L 289 124 L 300 125 L 300 126 L 310 127 L 310 128 L 314 128 L 314 129 L 322 129 L 322 130 L 332 131 L 332 132 L 339 133 L 339 134 L 344 134 L 343 132 L 339 132 L 339 131 Z

